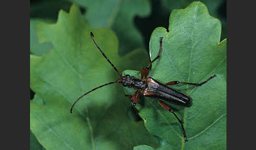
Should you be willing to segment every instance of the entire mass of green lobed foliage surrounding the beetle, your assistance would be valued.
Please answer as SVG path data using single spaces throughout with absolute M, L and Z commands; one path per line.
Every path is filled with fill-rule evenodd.
M 69 2 L 57 2 L 64 10 L 70 6 Z M 125 70 L 123 75 L 140 78 L 149 57 L 133 18 L 150 12 L 147 1 L 71 2 L 80 8 L 73 5 L 69 13 L 60 10 L 57 21 L 54 17 L 31 18 L 31 89 L 36 93 L 31 101 L 31 149 L 226 148 L 227 39 L 220 42 L 221 23 L 209 15 L 204 4 L 194 2 L 185 9 L 173 10 L 169 28 L 156 28 L 149 42 L 153 60 L 159 51 L 159 38 L 163 37 L 161 58 L 153 63 L 149 74 L 162 83 L 201 82 L 217 75 L 201 87 L 173 86 L 193 99 L 189 108 L 169 104 L 184 122 L 189 140 L 184 143 L 180 124 L 156 100 L 140 98 L 136 108 L 144 122 L 137 121 L 124 97 L 134 90 L 119 84 L 86 95 L 70 114 L 72 103 L 80 95 L 118 79 L 93 45 L 90 31 L 115 67 L 120 72 Z M 95 12 L 102 5 L 102 11 Z M 85 8 L 84 14 L 81 8 Z

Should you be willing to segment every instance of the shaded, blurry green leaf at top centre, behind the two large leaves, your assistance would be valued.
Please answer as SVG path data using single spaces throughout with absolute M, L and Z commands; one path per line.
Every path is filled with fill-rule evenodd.
M 86 8 L 85 18 L 94 28 L 109 27 L 120 40 L 119 55 L 144 48 L 144 41 L 134 25 L 134 17 L 145 17 L 150 14 L 150 2 L 141 1 L 81 1 L 70 0 Z

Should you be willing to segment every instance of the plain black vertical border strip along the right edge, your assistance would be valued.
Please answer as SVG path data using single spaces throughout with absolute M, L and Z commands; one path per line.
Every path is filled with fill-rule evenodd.
M 252 123 L 255 120 L 255 5 L 249 2 L 253 1 L 227 2 L 229 149 L 251 149 L 255 142 L 255 123 Z

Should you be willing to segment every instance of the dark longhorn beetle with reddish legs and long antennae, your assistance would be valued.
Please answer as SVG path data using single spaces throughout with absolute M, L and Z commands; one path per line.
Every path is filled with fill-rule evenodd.
M 160 83 L 159 81 L 156 81 L 155 79 L 151 78 L 151 77 L 147 77 L 149 75 L 149 71 L 151 70 L 152 67 L 152 63 L 156 60 L 160 58 L 161 52 L 163 50 L 162 48 L 162 43 L 163 43 L 163 37 L 160 37 L 160 50 L 158 55 L 155 57 L 155 59 L 153 59 L 153 61 L 150 60 L 150 63 L 147 67 L 143 67 L 142 71 L 141 71 L 141 79 L 136 79 L 134 77 L 131 77 L 129 74 L 126 74 L 125 76 L 122 76 L 121 73 L 119 71 L 117 71 L 117 69 L 114 67 L 113 63 L 111 63 L 111 61 L 105 56 L 104 52 L 101 50 L 101 48 L 96 44 L 96 41 L 94 40 L 94 35 L 91 32 L 91 38 L 94 42 L 94 44 L 96 45 L 96 47 L 101 51 L 102 55 L 106 58 L 107 61 L 109 61 L 109 63 L 111 64 L 111 66 L 115 69 L 115 71 L 117 72 L 119 79 L 113 82 L 109 82 L 103 85 L 100 85 L 99 87 L 96 87 L 94 89 L 92 89 L 91 91 L 88 91 L 87 93 L 83 94 L 81 97 L 79 97 L 72 105 L 72 108 L 70 110 L 70 112 L 72 113 L 72 109 L 75 105 L 75 103 L 80 100 L 82 97 L 84 97 L 86 94 L 104 87 L 105 85 L 109 85 L 109 84 L 113 84 L 113 83 L 122 83 L 124 87 L 129 87 L 129 88 L 133 88 L 136 91 L 133 93 L 133 95 L 125 95 L 126 97 L 129 97 L 129 99 L 133 102 L 133 106 L 135 106 L 135 104 L 137 102 L 139 102 L 139 96 L 143 95 L 144 97 L 150 97 L 150 98 L 156 98 L 159 99 L 158 102 L 159 104 L 162 106 L 162 108 L 164 108 L 165 110 L 171 112 L 174 114 L 174 116 L 176 117 L 176 119 L 180 122 L 181 127 L 182 127 L 182 134 L 185 138 L 185 142 L 188 141 L 186 138 L 186 133 L 185 133 L 185 129 L 184 126 L 181 122 L 181 120 L 179 119 L 179 117 L 174 113 L 173 109 L 169 106 L 166 105 L 164 102 L 170 102 L 170 103 L 174 103 L 176 105 L 180 105 L 180 106 L 184 106 L 184 107 L 189 107 L 190 106 L 190 101 L 191 98 L 189 97 L 189 95 L 180 92 L 178 90 L 175 90 L 173 88 L 168 87 L 168 85 L 174 85 L 174 84 L 179 84 L 179 83 L 183 83 L 183 84 L 191 84 L 191 85 L 196 85 L 196 86 L 201 86 L 202 84 L 208 82 L 210 79 L 216 77 L 216 75 L 214 74 L 213 76 L 211 76 L 210 78 L 208 78 L 207 80 L 201 82 L 201 83 L 188 83 L 188 82 L 182 82 L 182 81 L 171 81 L 168 83 Z

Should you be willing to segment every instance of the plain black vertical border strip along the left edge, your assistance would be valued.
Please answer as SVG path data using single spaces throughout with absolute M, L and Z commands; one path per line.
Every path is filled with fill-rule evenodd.
M 3 1 L 1 14 L 2 147 L 29 149 L 29 2 Z

